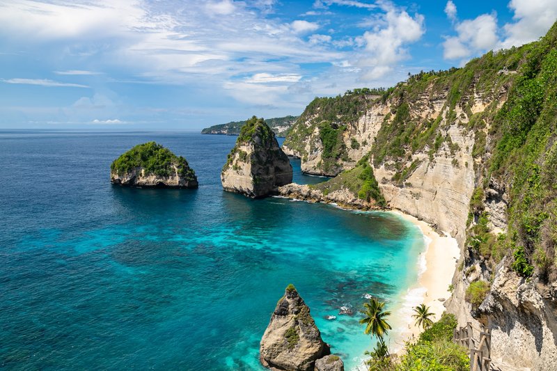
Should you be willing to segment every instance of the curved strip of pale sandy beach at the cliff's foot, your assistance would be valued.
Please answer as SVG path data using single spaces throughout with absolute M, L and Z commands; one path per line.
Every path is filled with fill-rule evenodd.
M 409 287 L 402 305 L 392 310 L 393 336 L 391 337 L 392 353 L 400 354 L 403 350 L 404 342 L 417 338 L 422 332 L 421 328 L 414 325 L 415 319 L 413 308 L 421 303 L 430 307 L 430 312 L 434 313 L 433 322 L 441 318 L 445 311 L 444 301 L 450 297 L 448 287 L 453 281 L 453 275 L 460 257 L 460 248 L 456 239 L 444 232 L 444 236 L 439 235 L 432 226 L 425 221 L 418 220 L 416 217 L 405 214 L 400 210 L 391 210 L 402 219 L 409 221 L 418 227 L 424 237 L 425 251 L 420 254 L 417 264 L 418 281 Z M 445 299 L 439 301 L 439 299 Z M 397 331 L 400 329 L 399 331 Z

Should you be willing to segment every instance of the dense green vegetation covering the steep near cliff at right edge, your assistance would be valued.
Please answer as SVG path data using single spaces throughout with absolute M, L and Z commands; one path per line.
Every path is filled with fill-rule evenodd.
M 557 24 L 538 42 L 507 52 L 517 74 L 508 99 L 478 150 L 483 184 L 471 200 L 469 245 L 495 265 L 512 254 L 512 269 L 557 278 Z M 478 138 L 478 136 L 476 136 Z M 477 144 L 477 143 L 476 143 Z M 493 237 L 482 204 L 491 180 L 508 184 L 508 231 Z

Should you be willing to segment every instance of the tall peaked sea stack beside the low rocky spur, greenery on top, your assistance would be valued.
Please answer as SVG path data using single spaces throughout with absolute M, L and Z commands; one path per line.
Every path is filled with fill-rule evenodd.
M 242 127 L 223 166 L 221 182 L 225 191 L 251 198 L 277 194 L 278 187 L 292 182 L 288 156 L 265 120 L 253 116 Z

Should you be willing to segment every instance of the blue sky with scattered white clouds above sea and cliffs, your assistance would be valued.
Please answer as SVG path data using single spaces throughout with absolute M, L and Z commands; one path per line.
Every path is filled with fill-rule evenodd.
M 299 115 L 538 40 L 557 0 L 0 0 L 0 129 Z

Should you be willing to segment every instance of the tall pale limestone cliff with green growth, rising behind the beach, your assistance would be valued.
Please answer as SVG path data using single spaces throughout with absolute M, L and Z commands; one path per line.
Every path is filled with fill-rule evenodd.
M 557 369 L 556 40 L 554 26 L 539 42 L 415 75 L 380 97 L 316 100 L 285 140 L 314 173 L 327 173 L 319 160 L 333 148 L 337 184 L 366 161 L 391 207 L 456 237 L 446 307 L 460 325 L 492 328 L 494 360 L 533 370 Z M 339 109 L 351 102 L 352 116 Z M 332 147 L 329 123 L 340 128 Z M 362 151 L 349 149 L 352 137 Z

